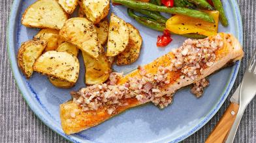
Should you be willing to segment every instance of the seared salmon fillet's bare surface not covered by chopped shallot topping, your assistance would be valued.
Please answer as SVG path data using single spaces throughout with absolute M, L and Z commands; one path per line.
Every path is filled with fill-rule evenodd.
M 193 77 L 190 76 L 190 73 L 187 73 L 184 69 L 176 68 L 176 70 L 167 70 L 165 84 L 162 84 L 157 89 L 152 89 L 155 90 L 153 92 L 157 92 L 157 90 L 159 90 L 161 92 L 159 92 L 157 96 L 163 97 L 174 94 L 176 90 L 184 86 L 191 85 L 201 79 L 204 79 L 208 75 L 223 68 L 230 62 L 235 62 L 236 60 L 242 59 L 244 55 L 242 46 L 234 36 L 226 33 L 218 33 L 216 35 L 209 36 L 207 40 L 209 41 L 210 44 L 214 45 L 213 41 L 216 38 L 221 38 L 222 43 L 220 44 L 219 48 L 217 48 L 216 51 L 214 51 L 214 61 L 200 64 L 200 71 L 193 70 L 194 73 L 200 72 L 200 74 L 197 74 L 197 76 Z M 143 68 L 144 72 L 146 73 L 156 75 L 159 72 L 159 68 L 168 67 L 171 64 L 173 64 L 173 59 L 177 59 L 174 53 L 174 51 L 167 53 L 166 55 L 159 57 L 158 59 L 154 60 L 149 64 L 146 64 L 145 66 L 142 66 L 141 68 Z M 182 51 L 182 55 L 187 55 L 187 51 Z M 123 85 L 129 82 L 131 78 L 142 80 L 143 76 L 141 73 L 142 71 L 140 70 L 141 68 L 125 75 L 124 77 L 121 77 L 118 80 L 117 85 Z M 184 77 L 184 73 L 187 73 L 187 75 L 189 75 L 190 78 Z M 142 105 L 149 101 L 150 99 L 142 101 L 138 99 L 138 96 L 131 98 L 121 98 L 120 102 L 125 102 L 125 104 L 116 106 L 114 112 L 109 112 L 108 109 L 110 108 L 110 106 L 108 105 L 103 105 L 97 108 L 97 110 L 84 110 L 82 109 L 82 106 L 77 104 L 76 102 L 68 101 L 67 103 L 63 103 L 60 105 L 59 111 L 61 125 L 63 131 L 67 135 L 70 135 L 72 133 L 78 133 L 80 131 L 98 125 L 99 123 L 102 123 L 105 120 L 108 120 L 112 116 L 115 116 L 116 114 L 119 114 L 120 112 L 123 112 L 126 109 Z

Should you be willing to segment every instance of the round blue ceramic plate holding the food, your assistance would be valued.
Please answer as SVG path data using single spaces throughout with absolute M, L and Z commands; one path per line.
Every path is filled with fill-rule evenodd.
M 34 1 L 14 0 L 12 5 L 8 23 L 8 53 L 12 72 L 20 92 L 33 112 L 48 127 L 72 142 L 180 142 L 199 130 L 216 114 L 236 79 L 240 62 L 212 75 L 209 78 L 210 86 L 202 98 L 195 98 L 189 89 L 185 88 L 176 93 L 173 104 L 166 109 L 160 110 L 149 103 L 127 110 L 97 127 L 67 136 L 61 129 L 59 104 L 71 99 L 69 95 L 71 90 L 85 86 L 83 60 L 79 55 L 81 74 L 76 86 L 69 90 L 52 86 L 47 77 L 39 73 L 34 73 L 31 79 L 25 79 L 18 69 L 16 54 L 20 44 L 32 39 L 39 29 L 24 27 L 20 19 L 25 8 Z M 224 28 L 219 24 L 219 31 L 234 34 L 242 43 L 242 21 L 236 0 L 223 1 L 223 5 L 229 19 L 229 27 Z M 114 66 L 114 70 L 118 72 L 129 72 L 138 65 L 151 62 L 170 49 L 179 47 L 185 40 L 181 36 L 173 36 L 173 41 L 168 47 L 158 48 L 155 43 L 160 32 L 136 23 L 127 16 L 127 10 L 123 6 L 111 6 L 110 9 L 139 29 L 144 41 L 140 58 L 129 66 Z

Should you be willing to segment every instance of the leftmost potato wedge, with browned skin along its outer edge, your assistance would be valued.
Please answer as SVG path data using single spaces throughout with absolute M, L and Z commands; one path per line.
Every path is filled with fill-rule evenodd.
M 29 40 L 20 46 L 17 56 L 18 66 L 25 77 L 29 78 L 33 74 L 33 64 L 42 54 L 46 45 L 46 40 Z

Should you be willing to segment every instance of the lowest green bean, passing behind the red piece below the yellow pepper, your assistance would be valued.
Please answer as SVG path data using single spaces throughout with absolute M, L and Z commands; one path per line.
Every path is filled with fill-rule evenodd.
M 137 16 L 133 12 L 133 10 L 131 10 L 130 8 L 127 9 L 127 13 L 131 18 L 134 18 L 136 21 L 138 21 L 138 23 L 145 25 L 146 27 L 148 27 L 150 29 L 153 29 L 155 31 L 164 31 L 166 29 L 165 24 L 157 23 L 157 21 L 155 21 L 154 19 L 151 19 L 151 18 Z M 174 33 L 172 33 L 172 34 L 174 34 Z M 195 38 L 195 39 L 206 38 L 206 36 L 201 35 L 201 34 L 196 34 L 196 33 L 182 34 L 181 36 L 185 36 L 187 38 Z

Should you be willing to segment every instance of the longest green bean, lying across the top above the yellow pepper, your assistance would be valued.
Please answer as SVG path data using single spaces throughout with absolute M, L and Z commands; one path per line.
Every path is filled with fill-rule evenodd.
M 209 16 L 208 14 L 204 12 L 200 12 L 198 10 L 191 10 L 189 8 L 182 8 L 182 7 L 168 8 L 167 6 L 158 6 L 158 5 L 153 5 L 152 3 L 145 3 L 142 1 L 131 1 L 131 0 L 112 0 L 112 2 L 119 3 L 121 5 L 125 5 L 133 9 L 144 9 L 144 10 L 151 10 L 151 11 L 157 11 L 157 12 L 167 12 L 170 14 L 180 14 L 180 15 L 185 15 L 192 18 L 202 19 L 210 23 L 214 23 L 214 18 L 212 18 L 212 16 Z

